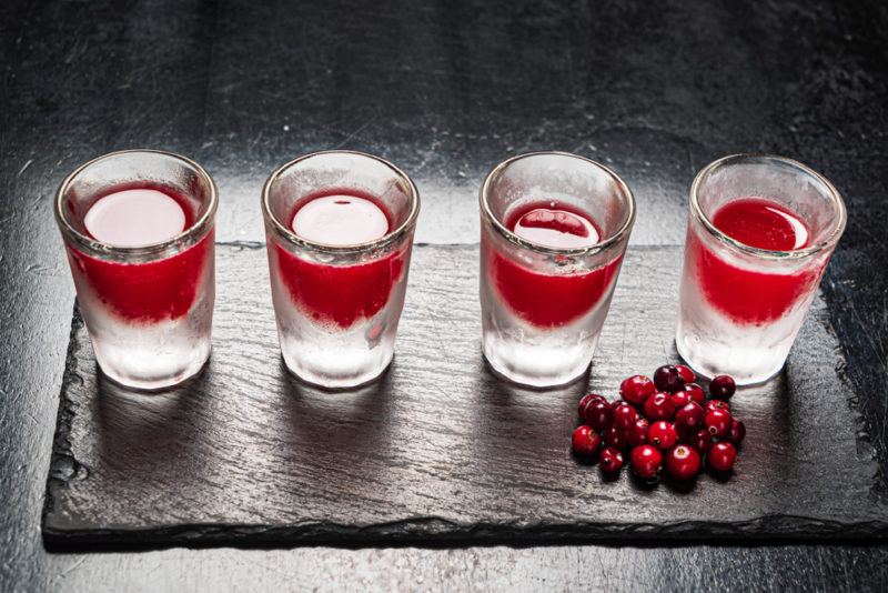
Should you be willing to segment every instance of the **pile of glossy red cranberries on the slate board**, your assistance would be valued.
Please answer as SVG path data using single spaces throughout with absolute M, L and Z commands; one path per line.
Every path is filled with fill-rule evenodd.
M 728 375 L 714 378 L 707 401 L 696 379 L 687 366 L 667 364 L 656 370 L 653 381 L 640 374 L 623 381 L 622 400 L 585 395 L 579 400 L 584 424 L 574 431 L 574 451 L 597 454 L 602 470 L 609 473 L 623 468 L 623 452 L 630 450 L 633 472 L 644 480 L 657 478 L 664 466 L 676 480 L 689 480 L 700 472 L 704 458 L 710 470 L 729 472 L 746 435 L 727 402 L 736 384 Z

